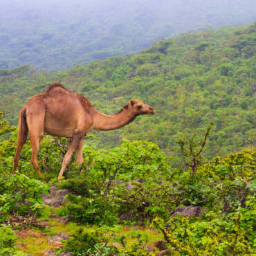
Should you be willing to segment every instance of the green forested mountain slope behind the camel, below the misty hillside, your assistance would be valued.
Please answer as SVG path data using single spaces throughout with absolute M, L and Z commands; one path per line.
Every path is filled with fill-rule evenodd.
M 247 28 L 185 33 L 155 42 L 138 55 L 111 57 L 67 71 L 39 73 L 28 66 L 0 71 L 0 109 L 17 125 L 27 98 L 51 82 L 81 93 L 103 113 L 115 113 L 131 98 L 156 109 L 116 131 L 95 132 L 102 147 L 120 138 L 151 140 L 179 162 L 176 140 L 215 125 L 207 157 L 255 145 L 255 33 Z M 178 161 L 178 162 L 177 162 Z

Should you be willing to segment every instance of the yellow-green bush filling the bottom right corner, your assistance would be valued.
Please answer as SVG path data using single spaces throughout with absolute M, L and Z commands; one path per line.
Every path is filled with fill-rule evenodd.
M 178 215 L 167 224 L 156 218 L 153 223 L 174 255 L 250 255 L 254 251 L 255 206 L 254 201 L 228 216 L 209 212 L 197 218 Z

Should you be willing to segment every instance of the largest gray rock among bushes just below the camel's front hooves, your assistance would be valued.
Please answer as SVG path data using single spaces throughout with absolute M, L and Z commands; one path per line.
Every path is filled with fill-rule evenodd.
M 49 194 L 42 194 L 42 199 L 47 205 L 60 207 L 64 201 L 68 201 L 68 199 L 64 199 L 64 196 L 68 193 L 69 190 L 55 190 L 55 188 L 51 188 Z

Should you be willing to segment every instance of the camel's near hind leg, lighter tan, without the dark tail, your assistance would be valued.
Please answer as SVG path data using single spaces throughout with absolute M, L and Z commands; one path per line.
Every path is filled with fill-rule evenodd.
M 42 104 L 41 106 L 37 104 L 36 112 L 34 112 L 33 110 L 33 111 L 28 111 L 27 113 L 28 131 L 30 133 L 30 140 L 32 144 L 31 163 L 33 164 L 33 167 L 41 177 L 42 177 L 42 173 L 39 170 L 39 165 L 37 162 L 37 154 L 39 150 L 39 142 L 44 137 L 44 116 L 45 116 L 44 104 Z

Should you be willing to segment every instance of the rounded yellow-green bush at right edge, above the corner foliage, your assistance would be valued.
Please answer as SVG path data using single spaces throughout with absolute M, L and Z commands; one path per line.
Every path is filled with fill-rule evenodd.
M 202 181 L 203 201 L 226 213 L 244 208 L 248 196 L 255 196 L 255 156 L 244 150 L 199 167 L 196 179 Z

